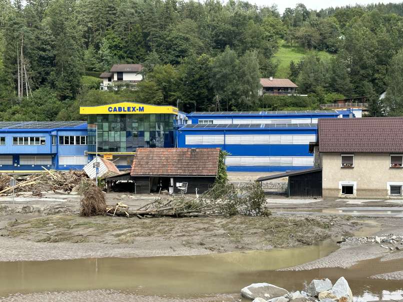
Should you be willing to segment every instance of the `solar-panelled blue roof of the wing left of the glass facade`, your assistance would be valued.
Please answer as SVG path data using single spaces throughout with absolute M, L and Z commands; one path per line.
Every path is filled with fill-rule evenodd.
M 87 123 L 84 121 L 26 121 L 26 122 L 0 122 L 0 131 L 1 130 L 53 130 L 53 129 L 87 129 Z

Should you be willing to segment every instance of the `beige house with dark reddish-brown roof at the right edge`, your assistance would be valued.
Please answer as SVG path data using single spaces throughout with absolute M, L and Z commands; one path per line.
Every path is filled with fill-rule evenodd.
M 318 152 L 323 197 L 403 198 L 402 117 L 319 119 Z

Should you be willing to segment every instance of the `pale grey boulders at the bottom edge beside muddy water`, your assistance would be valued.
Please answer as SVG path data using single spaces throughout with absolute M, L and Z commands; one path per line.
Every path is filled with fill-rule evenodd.
M 305 291 L 288 292 L 268 283 L 254 283 L 240 294 L 253 302 L 352 302 L 351 289 L 344 277 L 333 285 L 329 279 L 314 279 Z

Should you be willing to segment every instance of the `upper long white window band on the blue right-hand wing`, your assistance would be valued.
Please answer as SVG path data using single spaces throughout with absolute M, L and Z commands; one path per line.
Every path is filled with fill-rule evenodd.
M 186 145 L 308 145 L 315 135 L 186 135 Z

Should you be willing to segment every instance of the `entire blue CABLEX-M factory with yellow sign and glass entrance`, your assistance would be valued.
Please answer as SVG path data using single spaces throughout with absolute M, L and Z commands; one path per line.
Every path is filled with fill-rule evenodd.
M 121 104 L 143 111 L 108 113 Z M 0 171 L 80 170 L 95 155 L 96 133 L 98 155 L 119 169 L 130 166 L 136 147 L 161 142 L 164 147 L 219 147 L 228 153 L 228 171 L 306 169 L 313 166 L 308 145 L 316 140 L 318 118 L 354 117 L 349 110 L 183 114 L 171 106 L 132 102 L 80 110 L 89 123 L 0 122 Z

